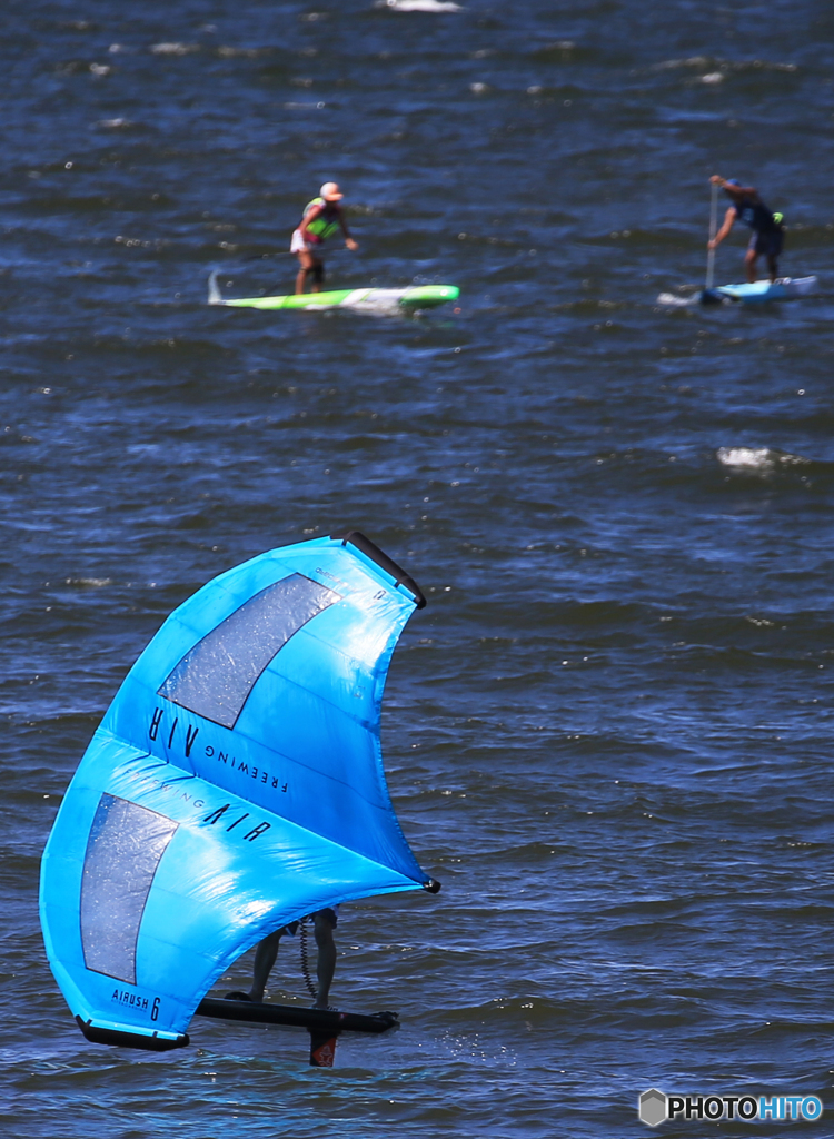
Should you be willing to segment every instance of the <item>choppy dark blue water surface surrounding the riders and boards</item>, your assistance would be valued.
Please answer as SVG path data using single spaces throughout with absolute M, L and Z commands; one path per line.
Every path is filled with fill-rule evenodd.
M 0 22 L 0 1132 L 640 1136 L 651 1087 L 834 1116 L 831 5 Z M 816 296 L 656 304 L 703 282 L 714 172 L 785 213 Z M 334 285 L 457 284 L 460 311 L 208 308 L 214 268 L 292 290 L 326 179 L 360 241 Z M 402 1029 L 333 1072 L 208 1021 L 181 1052 L 89 1044 L 38 921 L 67 781 L 175 605 L 346 527 L 430 600 L 383 747 L 444 888 L 346 907 L 333 991 Z M 296 953 L 272 999 L 303 999 Z

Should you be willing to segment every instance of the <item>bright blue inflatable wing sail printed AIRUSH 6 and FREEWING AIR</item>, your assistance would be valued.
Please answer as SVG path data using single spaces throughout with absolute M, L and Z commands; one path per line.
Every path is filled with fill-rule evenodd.
M 47 953 L 89 1039 L 188 1043 L 201 998 L 268 933 L 349 899 L 435 888 L 379 746 L 391 655 L 423 605 L 353 533 L 262 554 L 171 614 L 43 855 Z

